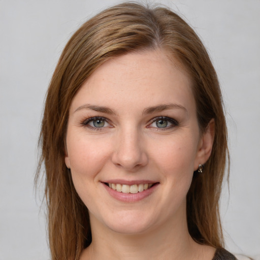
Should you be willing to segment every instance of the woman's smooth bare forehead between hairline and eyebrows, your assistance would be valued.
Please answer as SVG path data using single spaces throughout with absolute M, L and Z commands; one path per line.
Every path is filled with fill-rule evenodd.
M 102 64 L 75 95 L 72 109 L 84 103 L 120 106 L 154 106 L 193 103 L 191 80 L 177 61 L 164 51 L 146 50 L 123 54 Z

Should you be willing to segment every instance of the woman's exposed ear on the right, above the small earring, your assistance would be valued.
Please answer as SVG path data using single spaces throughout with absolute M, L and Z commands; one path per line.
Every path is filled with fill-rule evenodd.
M 212 146 L 214 142 L 215 135 L 215 121 L 212 118 L 201 136 L 196 159 L 194 160 L 194 171 L 198 170 L 199 165 L 204 165 L 208 160 Z

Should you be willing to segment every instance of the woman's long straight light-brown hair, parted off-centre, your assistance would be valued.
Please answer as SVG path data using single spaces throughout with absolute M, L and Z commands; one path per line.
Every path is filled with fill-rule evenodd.
M 60 56 L 47 91 L 36 181 L 44 165 L 52 259 L 79 259 L 83 248 L 91 243 L 87 207 L 79 198 L 64 163 L 72 99 L 104 62 L 145 49 L 166 51 L 188 72 L 201 133 L 214 118 L 212 153 L 204 173 L 193 175 L 186 213 L 194 241 L 223 246 L 219 198 L 229 154 L 221 91 L 210 57 L 194 30 L 168 8 L 123 3 L 94 16 L 75 32 Z

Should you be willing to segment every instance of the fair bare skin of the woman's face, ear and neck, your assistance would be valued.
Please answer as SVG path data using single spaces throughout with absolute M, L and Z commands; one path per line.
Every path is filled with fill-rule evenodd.
M 160 117 L 171 118 L 166 127 Z M 96 69 L 72 101 L 64 158 L 90 216 L 92 243 L 81 259 L 212 259 L 214 248 L 189 236 L 186 194 L 213 136 L 213 120 L 200 133 L 190 78 L 164 51 L 124 54 Z M 122 202 L 104 184 L 113 179 L 157 184 Z

